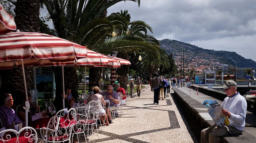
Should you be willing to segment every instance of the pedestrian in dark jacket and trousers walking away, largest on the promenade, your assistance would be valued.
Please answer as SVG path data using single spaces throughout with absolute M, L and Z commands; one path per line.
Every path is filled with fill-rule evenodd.
M 159 91 L 160 91 L 160 83 L 163 82 L 163 79 L 161 76 L 157 75 L 156 73 L 153 74 L 153 78 L 152 78 L 152 81 L 151 81 L 151 91 L 153 92 L 154 91 L 154 104 L 159 104 L 159 100 L 158 100 L 158 97 L 159 97 Z

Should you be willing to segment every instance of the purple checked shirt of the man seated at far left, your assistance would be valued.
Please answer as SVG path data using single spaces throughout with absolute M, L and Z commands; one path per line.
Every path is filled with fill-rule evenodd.
M 17 117 L 12 108 L 1 106 L 0 107 L 0 118 L 5 129 L 14 124 L 22 123 L 21 120 Z

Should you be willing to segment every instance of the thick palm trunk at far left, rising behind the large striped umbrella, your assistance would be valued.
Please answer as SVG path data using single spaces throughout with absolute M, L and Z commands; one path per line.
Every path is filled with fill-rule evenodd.
M 14 9 L 17 29 L 25 32 L 37 32 L 40 29 L 39 4 L 40 0 L 17 0 Z M 30 91 L 33 86 L 32 70 L 33 68 L 31 67 L 25 68 L 27 91 Z M 25 92 L 22 70 L 20 68 L 5 70 L 2 77 L 5 79 L 3 80 L 1 92 L 11 93 L 15 99 L 14 102 L 22 102 L 20 94 Z

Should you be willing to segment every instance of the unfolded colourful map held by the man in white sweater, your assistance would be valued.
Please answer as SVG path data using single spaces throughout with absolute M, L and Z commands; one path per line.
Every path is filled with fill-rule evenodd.
M 223 127 L 229 124 L 228 118 L 222 114 L 223 107 L 217 100 L 204 100 L 203 105 L 208 107 L 208 113 L 217 125 Z

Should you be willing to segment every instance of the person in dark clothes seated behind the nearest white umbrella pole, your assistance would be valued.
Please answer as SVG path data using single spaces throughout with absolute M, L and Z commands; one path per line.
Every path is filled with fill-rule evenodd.
M 40 113 L 40 107 L 34 106 L 34 104 L 31 103 L 31 98 L 32 98 L 31 94 L 30 92 L 28 92 L 28 103 L 30 105 L 29 112 L 28 112 L 28 121 L 32 121 L 32 118 L 31 118 L 32 115 L 34 115 L 35 113 Z M 25 101 L 26 101 L 25 93 L 24 95 L 22 95 L 22 101 L 23 101 L 23 104 L 19 106 L 17 109 L 17 115 L 19 119 L 21 119 L 21 121 L 25 122 L 25 109 L 23 108 L 25 107 Z

